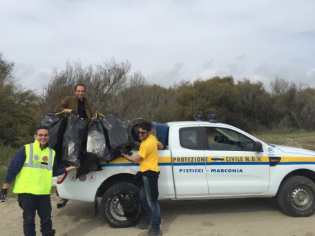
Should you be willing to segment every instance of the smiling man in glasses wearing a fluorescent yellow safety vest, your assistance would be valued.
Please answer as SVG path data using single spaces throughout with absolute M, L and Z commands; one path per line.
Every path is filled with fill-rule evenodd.
M 41 234 L 55 235 L 51 220 L 50 190 L 53 177 L 77 167 L 58 168 L 55 150 L 49 148 L 48 128 L 37 128 L 32 144 L 24 145 L 12 159 L 0 192 L 1 201 L 6 201 L 10 183 L 16 177 L 13 193 L 23 209 L 24 235 L 36 235 L 35 214 L 41 219 Z

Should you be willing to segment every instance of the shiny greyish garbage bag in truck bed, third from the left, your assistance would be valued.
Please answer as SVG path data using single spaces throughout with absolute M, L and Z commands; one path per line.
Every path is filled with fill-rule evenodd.
M 105 160 L 110 155 L 106 144 L 106 133 L 100 119 L 94 119 L 88 127 L 86 145 L 86 161 L 95 162 Z

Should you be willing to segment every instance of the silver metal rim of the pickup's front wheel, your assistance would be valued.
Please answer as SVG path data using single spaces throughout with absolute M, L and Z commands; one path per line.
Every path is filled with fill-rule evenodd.
M 299 210 L 306 209 L 312 204 L 312 192 L 305 186 L 298 187 L 292 191 L 291 202 Z

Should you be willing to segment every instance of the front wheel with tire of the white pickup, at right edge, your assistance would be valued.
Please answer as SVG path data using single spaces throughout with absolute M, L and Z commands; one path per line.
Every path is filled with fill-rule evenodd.
M 315 184 L 303 176 L 292 176 L 278 191 L 280 208 L 292 217 L 308 217 L 315 210 Z

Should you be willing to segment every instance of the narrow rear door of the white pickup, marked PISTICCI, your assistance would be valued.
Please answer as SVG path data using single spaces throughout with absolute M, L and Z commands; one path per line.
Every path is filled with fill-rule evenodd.
M 202 130 L 199 126 L 191 126 L 191 124 L 187 127 L 172 128 L 171 159 L 175 194 L 178 198 L 198 198 L 209 195 L 200 132 Z

